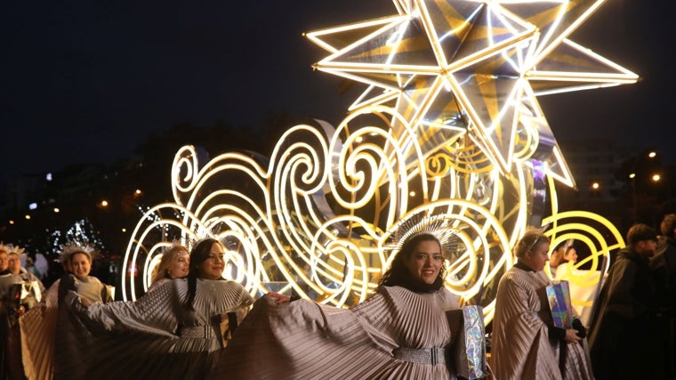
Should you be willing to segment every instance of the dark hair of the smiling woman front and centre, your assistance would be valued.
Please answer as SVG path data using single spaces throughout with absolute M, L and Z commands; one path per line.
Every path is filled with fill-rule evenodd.
M 418 279 L 411 276 L 411 272 L 406 267 L 406 262 L 414 254 L 415 248 L 423 241 L 436 241 L 439 244 L 439 251 L 441 250 L 441 243 L 434 235 L 429 233 L 422 233 L 407 239 L 399 249 L 397 256 L 395 256 L 390 269 L 385 271 L 382 275 L 379 285 L 384 287 L 406 287 L 406 289 L 415 293 L 430 293 L 439 290 L 444 286 L 444 279 L 446 278 L 446 266 L 441 264 L 439 277 L 434 280 L 433 284 L 425 284 Z

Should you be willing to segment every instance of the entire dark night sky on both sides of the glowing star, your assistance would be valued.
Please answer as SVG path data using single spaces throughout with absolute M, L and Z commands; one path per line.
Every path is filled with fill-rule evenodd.
M 540 98 L 559 140 L 610 133 L 671 150 L 667 4 L 609 0 L 570 37 L 641 81 Z M 312 71 L 326 53 L 302 32 L 395 13 L 390 0 L 4 4 L 0 180 L 124 158 L 182 122 L 257 125 L 287 109 L 336 125 L 354 98 L 338 93 L 340 78 Z

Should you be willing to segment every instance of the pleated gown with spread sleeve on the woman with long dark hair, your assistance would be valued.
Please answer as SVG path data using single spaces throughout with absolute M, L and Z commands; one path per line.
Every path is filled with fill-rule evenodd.
M 70 292 L 60 307 L 70 311 L 72 338 L 57 339 L 56 346 L 75 354 L 76 363 L 57 372 L 68 379 L 204 379 L 224 344 L 221 315 L 235 327 L 253 299 L 237 282 L 206 279 L 197 279 L 194 311 L 185 308 L 187 297 L 187 279 L 169 281 L 135 302 L 88 308 Z M 57 358 L 57 367 L 61 363 Z

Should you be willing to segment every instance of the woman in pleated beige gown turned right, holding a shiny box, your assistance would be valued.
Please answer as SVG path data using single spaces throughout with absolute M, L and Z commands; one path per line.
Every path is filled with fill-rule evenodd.
M 550 240 L 529 227 L 514 247 L 517 263 L 500 279 L 495 297 L 491 368 L 500 380 L 593 379 L 586 331 L 554 326 L 544 273 Z

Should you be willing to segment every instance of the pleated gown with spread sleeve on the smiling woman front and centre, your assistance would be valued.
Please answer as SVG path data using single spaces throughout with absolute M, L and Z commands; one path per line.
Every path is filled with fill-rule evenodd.
M 448 379 L 445 287 L 414 293 L 379 287 L 350 309 L 265 295 L 228 344 L 213 378 Z

